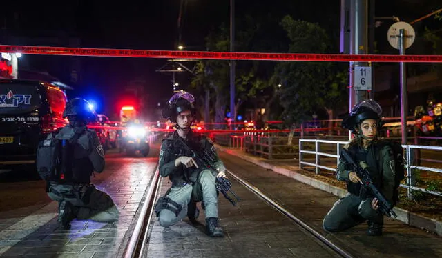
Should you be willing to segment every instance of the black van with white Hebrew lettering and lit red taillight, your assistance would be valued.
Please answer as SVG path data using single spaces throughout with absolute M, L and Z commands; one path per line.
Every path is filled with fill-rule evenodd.
M 0 166 L 35 163 L 39 141 L 68 123 L 66 101 L 50 83 L 0 79 Z

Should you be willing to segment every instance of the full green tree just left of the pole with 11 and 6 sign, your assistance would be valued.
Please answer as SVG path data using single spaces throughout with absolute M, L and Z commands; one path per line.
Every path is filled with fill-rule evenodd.
M 295 21 L 286 16 L 280 25 L 291 40 L 289 52 L 326 53 L 332 43 L 327 32 L 317 23 Z M 345 71 L 345 70 L 344 70 Z M 280 104 L 284 108 L 282 119 L 287 123 L 302 123 L 319 109 L 329 116 L 344 102 L 347 91 L 346 72 L 336 63 L 291 61 L 280 63 L 273 80 L 280 80 Z

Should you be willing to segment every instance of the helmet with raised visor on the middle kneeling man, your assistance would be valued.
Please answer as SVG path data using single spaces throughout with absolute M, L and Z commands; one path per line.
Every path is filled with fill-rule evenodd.
M 194 115 L 195 107 L 193 106 L 193 102 L 195 102 L 195 98 L 189 92 L 182 91 L 175 93 L 163 108 L 161 112 L 162 116 L 176 123 L 177 115 L 180 114 L 180 112 L 190 110 Z

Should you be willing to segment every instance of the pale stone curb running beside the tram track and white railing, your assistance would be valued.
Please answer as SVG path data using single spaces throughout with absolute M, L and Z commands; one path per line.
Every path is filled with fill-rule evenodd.
M 305 183 L 319 190 L 323 190 L 325 192 L 329 192 L 333 195 L 336 195 L 339 198 L 347 195 L 347 190 L 343 188 L 338 188 L 336 186 L 332 186 L 329 183 L 325 183 L 318 179 L 307 177 L 305 175 L 296 172 L 296 170 L 289 170 L 287 168 L 281 168 L 279 166 L 271 165 L 265 162 L 267 159 L 262 159 L 260 157 L 253 157 L 247 154 L 240 155 L 237 152 L 229 150 L 228 148 L 224 148 L 218 144 L 215 144 L 215 146 L 217 150 L 239 157 L 241 159 L 254 163 L 258 166 L 261 166 L 262 168 L 273 170 L 273 172 L 277 172 L 278 174 L 291 177 L 297 181 L 300 181 L 301 183 Z M 436 233 L 439 236 L 442 236 L 442 221 L 438 221 L 436 219 L 430 219 L 422 215 L 410 212 L 408 210 L 404 210 L 403 208 L 394 207 L 393 210 L 394 212 L 396 212 L 396 215 L 398 215 L 398 217 L 396 218 L 397 220 L 402 221 L 403 223 L 408 224 L 410 226 L 421 228 L 423 230 L 428 230 L 430 232 Z

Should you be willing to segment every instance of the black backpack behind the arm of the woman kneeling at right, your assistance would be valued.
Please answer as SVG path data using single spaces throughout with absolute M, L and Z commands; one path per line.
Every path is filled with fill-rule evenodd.
M 380 139 L 378 141 L 378 146 L 383 148 L 383 146 L 390 146 L 393 150 L 394 155 L 394 190 L 393 190 L 393 205 L 399 202 L 399 185 L 401 181 L 405 179 L 405 159 L 403 158 L 403 148 L 402 144 L 398 141 L 391 139 Z

